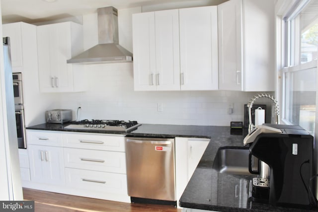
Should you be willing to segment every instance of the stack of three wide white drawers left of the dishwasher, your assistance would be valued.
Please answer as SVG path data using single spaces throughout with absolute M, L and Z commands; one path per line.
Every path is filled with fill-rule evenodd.
M 129 201 L 123 135 L 64 133 L 63 146 L 68 188 L 100 199 Z

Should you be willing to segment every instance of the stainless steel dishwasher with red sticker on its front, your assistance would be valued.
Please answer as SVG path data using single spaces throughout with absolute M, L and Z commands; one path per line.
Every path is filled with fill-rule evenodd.
M 128 195 L 175 201 L 174 139 L 126 138 Z

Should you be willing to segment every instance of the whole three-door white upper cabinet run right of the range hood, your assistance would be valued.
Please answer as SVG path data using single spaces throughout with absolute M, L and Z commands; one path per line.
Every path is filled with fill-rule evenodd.
M 133 14 L 135 90 L 218 89 L 217 6 Z

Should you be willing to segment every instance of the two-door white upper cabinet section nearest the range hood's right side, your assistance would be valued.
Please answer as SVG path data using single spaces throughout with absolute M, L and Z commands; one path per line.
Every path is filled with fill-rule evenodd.
M 180 90 L 178 9 L 133 14 L 135 90 Z

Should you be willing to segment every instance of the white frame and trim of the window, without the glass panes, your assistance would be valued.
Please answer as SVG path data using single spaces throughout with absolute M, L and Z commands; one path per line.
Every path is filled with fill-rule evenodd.
M 300 63 L 300 36 L 296 35 L 295 31 L 299 31 L 296 27 L 300 27 L 299 12 L 306 7 L 311 0 L 279 0 L 275 8 L 276 15 L 276 97 L 281 102 L 280 122 L 287 125 L 292 125 L 286 119 L 286 73 L 307 70 L 318 67 L 318 60 L 314 59 L 308 63 Z M 296 27 L 295 27 L 296 26 Z M 296 36 L 287 36 L 293 34 Z M 287 37 L 287 39 L 286 39 Z M 298 43 L 296 43 L 298 41 Z M 292 55 L 291 52 L 297 52 L 297 55 Z M 318 74 L 316 85 L 318 86 Z M 318 105 L 318 90 L 316 89 L 316 105 Z M 318 110 L 316 110 L 315 134 L 318 134 Z

